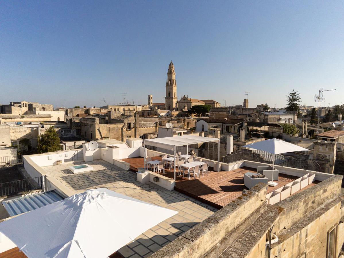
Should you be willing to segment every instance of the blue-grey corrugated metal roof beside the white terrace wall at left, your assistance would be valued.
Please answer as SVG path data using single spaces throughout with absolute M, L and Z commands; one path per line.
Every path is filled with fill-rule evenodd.
M 2 205 L 11 216 L 19 215 L 28 211 L 36 210 L 48 204 L 61 201 L 64 198 L 55 191 L 32 194 L 15 198 L 9 201 L 3 201 Z

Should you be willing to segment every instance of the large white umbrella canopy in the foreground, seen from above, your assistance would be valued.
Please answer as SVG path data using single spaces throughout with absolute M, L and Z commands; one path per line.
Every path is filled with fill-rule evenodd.
M 28 257 L 107 257 L 178 212 L 106 188 L 87 190 L 0 223 Z

